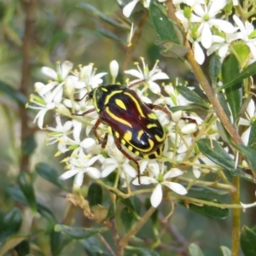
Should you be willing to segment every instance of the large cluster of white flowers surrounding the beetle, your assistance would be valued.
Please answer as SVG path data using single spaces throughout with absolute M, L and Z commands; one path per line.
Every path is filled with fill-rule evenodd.
M 132 86 L 136 90 L 143 102 L 161 104 L 167 107 L 187 105 L 189 102 L 183 96 L 177 93 L 172 84 L 162 86 L 156 83 L 158 79 L 168 79 L 166 73 L 163 73 L 155 63 L 152 70 L 142 58 L 143 67 L 135 63 L 137 69 L 125 71 L 125 73 L 135 77 L 131 84 L 143 82 L 141 85 Z M 185 113 L 177 111 L 172 113 L 172 119 L 160 110 L 155 110 L 161 125 L 166 131 L 166 143 L 162 157 L 155 160 L 138 160 L 141 177 L 137 177 L 137 168 L 134 167 L 130 160 L 122 154 L 116 147 L 113 136 L 108 136 L 106 148 L 96 140 L 91 132 L 92 127 L 96 124 L 98 114 L 94 111 L 92 101 L 81 99 L 86 93 L 90 92 L 96 86 L 102 84 L 102 77 L 107 73 L 96 73 L 92 64 L 79 67 L 79 70 L 73 71 L 73 64 L 70 61 L 64 61 L 62 64 L 57 63 L 56 71 L 43 67 L 44 73 L 49 79 L 48 84 L 41 82 L 35 83 L 35 89 L 38 96 L 31 96 L 31 104 L 28 108 L 38 110 L 34 122 L 38 123 L 40 129 L 49 131 L 49 144 L 57 143 L 58 152 L 56 156 L 66 153 L 69 157 L 63 161 L 67 163 L 67 172 L 61 175 L 61 179 L 74 177 L 74 184 L 81 186 L 84 180 L 84 173 L 94 179 L 108 177 L 111 172 L 118 171 L 123 187 L 133 185 L 153 184 L 154 192 L 151 196 L 151 203 L 157 207 L 162 200 L 162 186 L 167 186 L 177 194 L 184 195 L 187 190 L 180 183 L 172 181 L 173 177 L 183 175 L 183 171 L 177 168 L 186 160 L 195 156 L 195 151 L 191 145 L 194 133 L 201 125 L 201 118 L 194 113 Z M 112 82 L 118 74 L 119 65 L 117 61 L 110 64 L 110 73 Z M 166 96 L 163 96 L 162 91 Z M 150 92 L 151 91 L 151 92 Z M 148 94 L 156 98 L 152 101 Z M 44 125 L 45 114 L 49 111 L 56 112 L 56 126 L 48 127 Z M 84 113 L 83 117 L 78 117 L 74 113 Z M 190 120 L 194 119 L 195 122 Z M 101 124 L 99 133 L 103 137 L 108 132 L 107 125 Z M 189 155 L 188 154 L 189 150 Z M 132 154 L 132 153 L 131 153 Z M 201 163 L 209 164 L 209 161 L 201 158 Z M 169 164 L 167 164 L 169 163 Z M 197 167 L 193 169 L 195 177 L 200 177 L 201 168 L 199 160 L 196 158 Z M 173 166 L 172 168 L 170 168 Z M 169 167 L 167 167 L 169 166 Z M 187 171 L 187 170 L 185 170 Z

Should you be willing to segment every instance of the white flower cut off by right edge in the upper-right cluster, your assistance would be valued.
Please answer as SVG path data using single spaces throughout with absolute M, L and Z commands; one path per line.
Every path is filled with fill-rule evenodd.
M 237 37 L 241 38 L 241 40 L 245 41 L 248 48 L 251 50 L 253 58 L 256 59 L 256 37 L 251 38 L 251 34 L 254 32 L 253 24 L 248 22 L 247 20 L 244 24 L 241 20 L 236 16 L 233 15 L 233 19 L 236 22 L 236 25 L 239 27 L 240 32 L 237 33 Z

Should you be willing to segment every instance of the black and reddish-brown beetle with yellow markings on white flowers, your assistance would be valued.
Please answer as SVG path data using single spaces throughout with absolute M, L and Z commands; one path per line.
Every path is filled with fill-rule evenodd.
M 159 157 L 166 140 L 166 132 L 152 109 L 160 109 L 170 115 L 169 111 L 154 104 L 144 103 L 134 90 L 119 84 L 99 85 L 88 93 L 87 100 L 93 101 L 95 110 L 99 114 L 99 119 L 93 127 L 99 143 L 104 146 L 108 139 L 108 134 L 102 140 L 97 132 L 98 126 L 103 123 L 110 126 L 117 148 L 137 165 L 139 179 L 137 157 L 144 159 Z M 79 115 L 92 111 L 94 109 Z M 127 153 L 122 145 L 136 157 Z

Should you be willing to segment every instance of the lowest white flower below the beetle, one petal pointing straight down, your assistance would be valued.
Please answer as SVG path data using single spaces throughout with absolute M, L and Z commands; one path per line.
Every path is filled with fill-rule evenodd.
M 173 168 L 171 171 L 163 174 L 163 171 L 160 171 L 159 164 L 157 164 L 154 165 L 152 173 L 154 173 L 154 177 L 140 177 L 141 184 L 156 184 L 156 186 L 154 187 L 154 191 L 150 197 L 152 207 L 158 207 L 160 205 L 160 202 L 162 201 L 163 198 L 163 185 L 179 195 L 187 194 L 187 189 L 185 189 L 183 185 L 169 181 L 169 179 L 171 179 L 172 177 L 183 175 L 183 172 L 181 170 Z M 136 178 L 132 183 L 134 185 L 139 185 L 138 178 Z

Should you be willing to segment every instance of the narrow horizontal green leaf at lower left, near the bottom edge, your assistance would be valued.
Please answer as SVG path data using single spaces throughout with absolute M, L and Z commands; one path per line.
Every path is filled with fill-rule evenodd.
M 62 234 L 70 236 L 73 239 L 87 239 L 90 236 L 94 236 L 95 234 L 99 233 L 101 229 L 86 229 L 62 224 L 55 224 L 55 231 L 61 232 Z

